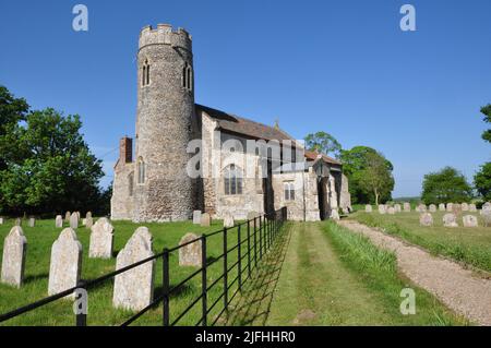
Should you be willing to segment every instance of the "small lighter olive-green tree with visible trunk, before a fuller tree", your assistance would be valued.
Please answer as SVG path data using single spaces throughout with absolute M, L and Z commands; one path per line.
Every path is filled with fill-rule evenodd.
M 359 172 L 359 183 L 366 192 L 373 193 L 375 204 L 381 196 L 390 196 L 394 189 L 394 178 L 387 170 L 387 160 L 378 153 L 367 153 L 367 166 Z

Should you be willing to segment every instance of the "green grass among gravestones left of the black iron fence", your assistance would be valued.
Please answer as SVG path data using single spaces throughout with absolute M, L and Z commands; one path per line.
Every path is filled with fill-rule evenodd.
M 96 220 L 96 219 L 95 219 Z M 12 228 L 14 221 L 7 220 L 0 225 L 0 254 L 2 253 L 3 240 Z M 204 232 L 212 232 L 223 228 L 223 221 L 213 221 L 211 227 L 201 227 L 192 223 L 169 223 L 169 224 L 133 224 L 130 221 L 113 221 L 115 227 L 115 253 L 110 260 L 88 259 L 89 229 L 81 226 L 76 229 L 77 238 L 83 245 L 82 279 L 89 280 L 115 271 L 116 254 L 130 239 L 139 226 L 148 227 L 153 235 L 154 253 L 159 253 L 164 248 L 178 245 L 182 236 L 193 232 L 201 236 Z M 68 224 L 64 223 L 67 228 Z M 7 313 L 19 307 L 32 303 L 48 296 L 48 276 L 51 245 L 61 232 L 61 228 L 55 228 L 53 219 L 36 220 L 34 228 L 27 227 L 23 221 L 24 235 L 27 238 L 27 255 L 25 265 L 24 285 L 21 289 L 0 284 L 0 313 Z M 207 239 L 208 261 L 219 256 L 223 253 L 221 233 Z M 246 238 L 246 231 L 242 231 L 242 239 Z M 228 249 L 237 244 L 237 228 L 228 232 Z M 231 252 L 228 257 L 229 267 L 237 261 L 237 250 Z M 170 254 L 170 286 L 175 286 L 183 280 L 197 267 L 181 267 L 178 265 L 178 251 Z M 223 261 L 216 262 L 207 271 L 208 286 L 217 279 L 223 273 Z M 237 267 L 229 274 L 229 281 L 237 276 Z M 116 310 L 112 308 L 112 285 L 113 280 L 107 280 L 96 288 L 88 290 L 88 314 L 87 325 L 118 325 L 130 319 L 132 312 Z M 155 295 L 161 291 L 161 259 L 155 264 Z M 237 288 L 237 283 L 230 290 L 230 293 Z M 219 281 L 208 292 L 208 305 L 220 296 L 223 283 Z M 170 300 L 170 321 L 184 310 L 191 301 L 201 293 L 201 275 L 195 276 L 191 281 L 176 291 Z M 209 314 L 208 321 L 214 320 L 214 315 L 223 309 L 223 305 L 216 305 L 216 309 Z M 201 317 L 201 301 L 185 315 L 178 325 L 194 325 Z M 58 300 L 53 303 L 38 308 L 32 312 L 22 314 L 0 325 L 74 325 L 75 316 L 73 314 L 72 302 L 70 300 Z M 161 325 L 161 305 L 149 310 L 141 316 L 133 325 Z

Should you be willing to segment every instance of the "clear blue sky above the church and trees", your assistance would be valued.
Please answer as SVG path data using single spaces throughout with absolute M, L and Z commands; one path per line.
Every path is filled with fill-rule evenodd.
M 72 8 L 89 29 L 72 29 Z M 417 32 L 399 9 L 416 7 Z M 327 131 L 394 164 L 394 196 L 451 165 L 490 160 L 479 108 L 491 103 L 491 1 L 0 0 L 0 84 L 33 108 L 79 113 L 108 184 L 134 134 L 140 29 L 193 35 L 195 100 L 302 139 Z

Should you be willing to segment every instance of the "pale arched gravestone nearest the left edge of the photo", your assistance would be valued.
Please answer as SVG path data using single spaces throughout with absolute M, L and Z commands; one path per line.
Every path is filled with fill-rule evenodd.
M 14 226 L 3 243 L 1 281 L 20 288 L 24 280 L 27 239 L 20 226 Z

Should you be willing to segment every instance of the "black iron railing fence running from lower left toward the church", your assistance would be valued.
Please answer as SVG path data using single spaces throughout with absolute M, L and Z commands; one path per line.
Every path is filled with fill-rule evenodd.
M 262 260 L 263 254 L 267 252 L 267 250 L 273 245 L 273 242 L 277 235 L 279 233 L 284 221 L 287 219 L 287 211 L 286 207 L 283 207 L 276 211 L 271 215 L 262 215 L 259 217 L 254 217 L 244 223 L 240 223 L 235 225 L 231 228 L 224 227 L 220 230 L 204 233 L 201 237 L 182 243 L 180 245 L 176 245 L 173 248 L 165 248 L 160 253 L 157 253 L 151 257 L 144 259 L 115 272 L 108 273 L 104 276 L 100 276 L 96 279 L 92 280 L 81 280 L 75 287 L 67 289 L 62 292 L 59 292 L 53 296 L 46 297 L 41 300 L 35 301 L 11 312 L 0 314 L 0 323 L 9 321 L 13 317 L 20 316 L 24 313 L 34 311 L 40 307 L 47 305 L 55 301 L 58 301 L 67 296 L 72 295 L 79 289 L 83 289 L 88 291 L 88 289 L 94 288 L 96 285 L 99 285 L 106 280 L 115 278 L 117 275 L 123 274 L 124 272 L 131 271 L 137 266 L 141 266 L 147 262 L 154 262 L 161 259 L 161 276 L 163 276 L 163 289 L 161 295 L 154 298 L 152 303 L 146 305 L 144 309 L 134 313 L 130 319 L 121 324 L 121 326 L 130 325 L 135 322 L 139 317 L 145 314 L 152 308 L 159 305 L 161 302 L 161 323 L 164 326 L 173 326 L 178 324 L 184 316 L 188 314 L 191 309 L 193 309 L 197 303 L 201 302 L 202 305 L 202 315 L 195 326 L 203 325 L 207 326 L 208 315 L 212 313 L 212 310 L 218 305 L 220 301 L 223 301 L 223 309 L 215 316 L 212 325 L 215 325 L 217 321 L 220 319 L 221 314 L 228 311 L 228 305 L 235 299 L 237 293 L 242 290 L 242 285 L 244 281 L 252 277 L 252 271 L 258 267 L 258 262 Z M 231 229 L 237 229 L 237 244 L 229 248 L 228 247 L 228 233 Z M 247 229 L 246 238 L 242 238 L 242 229 Z M 207 239 L 214 236 L 223 235 L 223 253 L 216 256 L 213 261 L 208 261 L 207 253 Z M 194 272 L 192 272 L 184 279 L 179 281 L 175 286 L 170 286 L 170 263 L 169 256 L 172 252 L 179 251 L 181 248 L 188 247 L 192 243 L 201 242 L 201 267 Z M 230 266 L 228 265 L 229 254 L 232 252 L 237 252 L 237 261 L 233 262 Z M 217 262 L 223 262 L 223 273 L 208 285 L 207 271 L 208 268 L 216 264 Z M 246 263 L 246 266 L 242 266 L 242 262 Z M 237 267 L 237 276 L 229 281 L 228 276 L 231 274 L 231 271 Z M 246 275 L 243 275 L 246 273 Z M 191 281 L 196 276 L 201 275 L 201 293 L 196 298 L 191 300 L 191 303 L 182 310 L 179 314 L 176 315 L 173 321 L 170 320 L 170 296 L 175 293 L 177 290 L 182 288 L 185 284 Z M 244 277 L 243 277 L 244 276 Z M 223 284 L 223 292 L 215 299 L 211 305 L 208 305 L 208 292 L 214 287 Z M 238 284 L 237 289 L 229 297 L 229 290 Z M 86 326 L 86 314 L 77 313 L 75 314 L 75 323 L 77 326 Z

